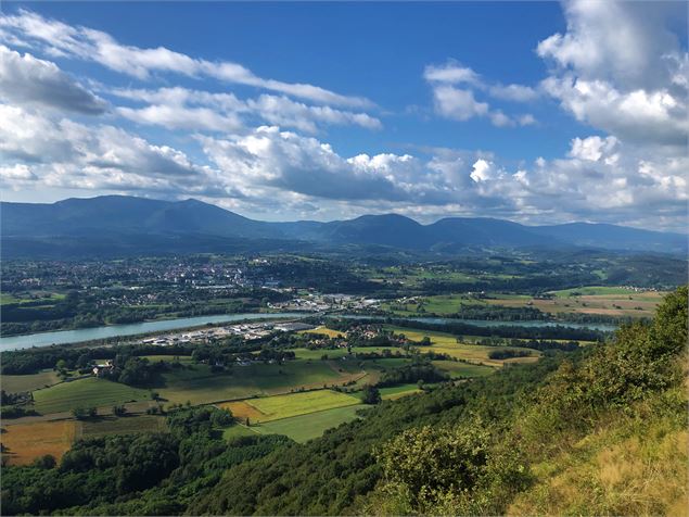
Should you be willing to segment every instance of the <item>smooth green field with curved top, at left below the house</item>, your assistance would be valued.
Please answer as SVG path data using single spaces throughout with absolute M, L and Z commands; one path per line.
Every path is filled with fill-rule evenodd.
M 68 412 L 75 407 L 112 406 L 149 398 L 146 390 L 90 377 L 35 391 L 34 407 L 44 415 Z

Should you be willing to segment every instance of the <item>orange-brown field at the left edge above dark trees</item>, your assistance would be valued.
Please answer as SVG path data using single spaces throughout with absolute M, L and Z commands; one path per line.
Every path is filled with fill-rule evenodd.
M 7 447 L 3 457 L 9 458 L 10 465 L 27 465 L 46 454 L 59 461 L 72 446 L 77 429 L 74 420 L 4 426 L 4 432 L 0 436 L 0 441 Z

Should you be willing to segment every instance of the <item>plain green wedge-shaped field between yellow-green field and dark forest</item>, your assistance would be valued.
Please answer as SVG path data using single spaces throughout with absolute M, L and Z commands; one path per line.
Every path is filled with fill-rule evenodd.
M 272 420 L 248 429 L 260 434 L 284 434 L 295 442 L 304 443 L 308 440 L 321 437 L 328 429 L 358 418 L 357 412 L 366 407 L 369 406 L 356 404 L 335 407 L 291 418 Z

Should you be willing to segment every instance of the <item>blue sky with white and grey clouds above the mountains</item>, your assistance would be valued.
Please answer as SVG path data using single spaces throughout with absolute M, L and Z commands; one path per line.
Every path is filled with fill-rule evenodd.
M 685 2 L 0 9 L 3 201 L 687 229 Z

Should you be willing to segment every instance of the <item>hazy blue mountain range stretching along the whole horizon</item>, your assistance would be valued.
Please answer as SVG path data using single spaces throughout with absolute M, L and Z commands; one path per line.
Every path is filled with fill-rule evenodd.
M 330 223 L 254 220 L 193 199 L 124 196 L 52 204 L 1 203 L 2 254 L 131 255 L 375 245 L 454 253 L 469 248 L 571 248 L 684 253 L 687 236 L 605 224 L 524 226 L 493 218 L 447 217 L 421 225 L 401 215 Z

